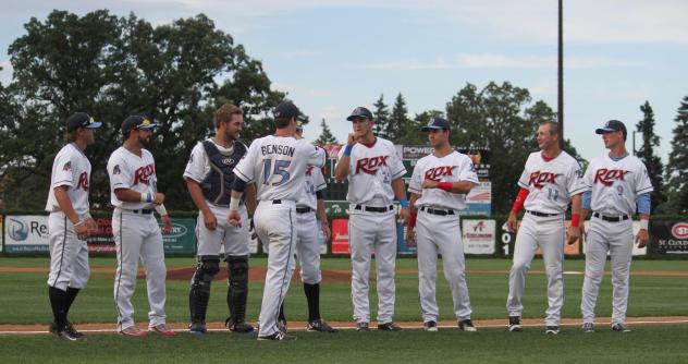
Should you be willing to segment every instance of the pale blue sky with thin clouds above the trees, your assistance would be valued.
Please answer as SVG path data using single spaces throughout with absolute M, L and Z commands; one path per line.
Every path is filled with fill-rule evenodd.
M 444 110 L 466 83 L 512 82 L 556 108 L 554 0 L 1 0 L 0 82 L 8 46 L 29 17 L 53 9 L 84 14 L 133 11 L 153 24 L 202 12 L 263 62 L 273 87 L 344 141 L 356 106 L 398 93 L 410 117 Z M 630 129 L 649 100 L 666 161 L 676 110 L 688 96 L 688 1 L 565 1 L 565 131 L 587 159 L 603 153 L 594 129 L 619 119 Z M 639 138 L 638 138 L 639 139 Z M 627 143 L 630 149 L 630 139 Z

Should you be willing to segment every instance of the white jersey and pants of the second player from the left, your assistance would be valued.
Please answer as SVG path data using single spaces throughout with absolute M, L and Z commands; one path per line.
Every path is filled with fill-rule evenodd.
M 165 277 L 162 233 L 152 215 L 153 204 L 119 201 L 114 191 L 131 189 L 139 193 L 157 192 L 156 166 L 152 155 L 142 149 L 137 156 L 124 147 L 112 153 L 108 160 L 110 199 L 114 206 L 112 234 L 116 248 L 118 269 L 114 277 L 114 302 L 118 330 L 134 326 L 132 296 L 136 287 L 138 259 L 146 266 L 149 327 L 165 323 Z

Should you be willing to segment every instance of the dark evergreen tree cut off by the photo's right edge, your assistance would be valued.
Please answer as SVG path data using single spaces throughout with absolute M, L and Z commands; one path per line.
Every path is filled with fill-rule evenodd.
M 669 187 L 669 210 L 672 213 L 688 213 L 688 96 L 684 97 L 678 107 L 672 139 L 672 151 L 666 165 L 666 181 Z

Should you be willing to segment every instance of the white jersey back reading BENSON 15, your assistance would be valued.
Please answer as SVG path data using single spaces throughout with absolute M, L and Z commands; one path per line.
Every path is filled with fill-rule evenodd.
M 255 139 L 234 168 L 244 182 L 256 182 L 258 199 L 296 202 L 303 192 L 308 166 L 324 166 L 324 149 L 306 139 L 268 135 Z

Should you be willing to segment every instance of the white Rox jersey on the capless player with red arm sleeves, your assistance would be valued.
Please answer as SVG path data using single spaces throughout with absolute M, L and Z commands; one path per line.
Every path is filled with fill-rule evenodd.
M 587 190 L 580 163 L 566 151 L 550 161 L 531 153 L 518 185 L 530 191 L 524 207 L 543 214 L 564 214 L 572 196 Z

